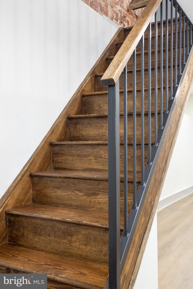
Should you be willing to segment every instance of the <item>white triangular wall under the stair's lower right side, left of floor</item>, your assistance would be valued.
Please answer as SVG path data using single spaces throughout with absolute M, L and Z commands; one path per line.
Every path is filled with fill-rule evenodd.
M 158 289 L 157 214 L 153 220 L 134 289 Z

